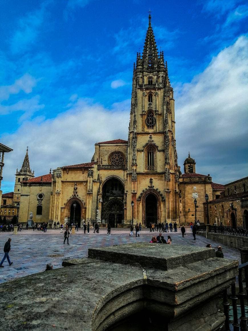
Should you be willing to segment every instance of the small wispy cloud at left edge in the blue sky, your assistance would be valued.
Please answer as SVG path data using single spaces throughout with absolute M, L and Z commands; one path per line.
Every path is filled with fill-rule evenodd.
M 36 86 L 37 79 L 32 77 L 30 74 L 25 73 L 14 84 L 0 86 L 0 101 L 8 100 L 11 94 L 18 94 L 20 91 L 28 94 L 32 92 L 34 86 Z

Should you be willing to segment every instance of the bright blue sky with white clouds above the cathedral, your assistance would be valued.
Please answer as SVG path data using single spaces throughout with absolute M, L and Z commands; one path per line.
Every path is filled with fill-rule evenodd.
M 125 139 L 148 11 L 174 88 L 178 161 L 226 184 L 248 175 L 248 4 L 239 0 L 1 0 L 1 189 L 26 146 L 35 176 Z M 183 171 L 182 171 L 183 172 Z

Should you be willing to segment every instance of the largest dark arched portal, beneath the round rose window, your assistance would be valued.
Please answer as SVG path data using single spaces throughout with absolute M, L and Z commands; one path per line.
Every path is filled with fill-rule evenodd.
M 111 178 L 103 184 L 102 220 L 117 227 L 124 219 L 124 186 L 117 178 Z

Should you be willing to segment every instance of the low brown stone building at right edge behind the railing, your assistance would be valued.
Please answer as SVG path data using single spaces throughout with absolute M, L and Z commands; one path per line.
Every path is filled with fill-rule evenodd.
M 248 177 L 224 185 L 219 199 L 208 202 L 209 223 L 227 226 L 248 226 Z M 207 223 L 207 204 L 204 203 Z

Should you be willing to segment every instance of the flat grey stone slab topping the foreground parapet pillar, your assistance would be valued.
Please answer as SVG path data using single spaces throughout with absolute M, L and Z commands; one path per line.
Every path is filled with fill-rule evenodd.
M 123 264 L 141 264 L 146 268 L 168 270 L 215 257 L 215 250 L 189 245 L 138 243 L 91 248 L 88 257 Z

